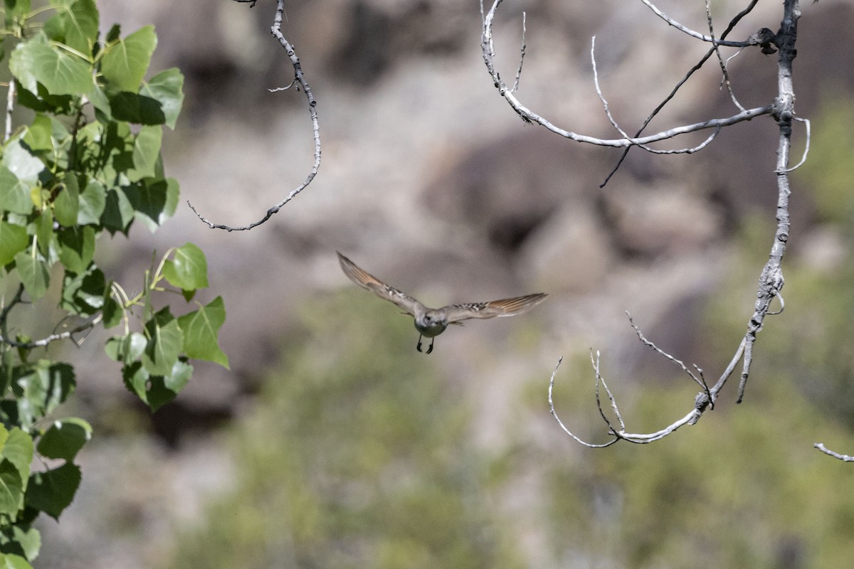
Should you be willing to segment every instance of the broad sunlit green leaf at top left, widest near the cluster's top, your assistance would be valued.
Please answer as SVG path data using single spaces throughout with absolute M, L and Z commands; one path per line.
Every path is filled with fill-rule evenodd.
M 48 44 L 44 33 L 15 47 L 9 70 L 24 88 L 38 92 L 41 83 L 52 95 L 80 95 L 92 89 L 91 67 L 74 55 Z

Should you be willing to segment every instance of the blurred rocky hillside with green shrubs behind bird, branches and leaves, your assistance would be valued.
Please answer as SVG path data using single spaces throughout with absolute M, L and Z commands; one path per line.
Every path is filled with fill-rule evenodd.
M 102 26 L 154 24 L 154 68 L 186 77 L 165 149 L 182 197 L 216 223 L 260 218 L 306 177 L 305 98 L 270 36 L 272 0 L 102 2 Z M 744 3 L 714 3 L 716 32 Z M 702 3 L 659 3 L 693 29 Z M 851 560 L 854 471 L 812 450 L 854 450 L 854 9 L 803 3 L 797 109 L 810 162 L 793 177 L 786 311 L 757 342 L 746 403 L 727 386 L 696 427 L 650 446 L 607 440 L 589 350 L 629 429 L 687 413 L 697 387 L 646 336 L 713 382 L 752 313 L 774 235 L 776 125 L 723 131 L 698 154 L 619 152 L 524 125 L 494 89 L 476 0 L 313 0 L 284 33 L 313 88 L 323 142 L 315 181 L 266 224 L 211 230 L 190 209 L 134 228 L 100 259 L 124 286 L 151 249 L 208 255 L 231 369 L 197 365 L 149 415 L 101 367 L 104 337 L 75 356 L 78 496 L 42 523 L 42 567 L 831 567 Z M 519 98 L 553 123 L 632 131 L 705 54 L 641 3 L 511 0 L 495 38 L 503 77 L 527 50 Z M 730 38 L 777 29 L 759 3 Z M 731 51 L 728 52 L 731 55 Z M 775 56 L 729 63 L 745 107 L 776 92 Z M 652 123 L 736 112 L 714 60 Z M 693 146 L 703 134 L 662 148 Z M 804 129 L 798 125 L 794 160 Z M 525 316 L 448 330 L 425 356 L 393 306 L 347 281 L 335 251 L 426 304 L 547 292 Z M 136 285 L 138 287 L 138 285 Z M 97 365 L 95 363 L 98 363 Z

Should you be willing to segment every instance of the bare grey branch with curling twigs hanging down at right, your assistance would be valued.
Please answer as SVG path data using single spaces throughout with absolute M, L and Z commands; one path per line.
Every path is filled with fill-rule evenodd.
M 718 397 L 718 394 L 721 392 L 723 386 L 726 384 L 728 378 L 734 373 L 734 370 L 741 363 L 741 373 L 740 373 L 740 383 L 738 389 L 738 398 L 737 403 L 740 403 L 744 398 L 744 392 L 746 388 L 747 379 L 750 376 L 752 359 L 753 359 L 753 346 L 756 343 L 757 334 L 762 330 L 765 316 L 780 314 L 785 307 L 785 303 L 783 302 L 783 298 L 781 295 L 781 290 L 784 284 L 784 278 L 781 269 L 781 263 L 784 254 L 786 253 L 786 247 L 789 238 L 789 229 L 790 229 L 790 218 L 789 218 L 789 195 L 791 194 L 791 189 L 789 185 L 789 177 L 788 174 L 790 171 L 793 171 L 794 168 L 797 168 L 799 165 L 804 163 L 806 158 L 806 153 L 809 148 L 809 138 L 810 138 L 810 124 L 809 121 L 805 119 L 799 119 L 795 116 L 794 112 L 794 89 L 792 82 L 792 62 L 795 58 L 795 42 L 797 40 L 797 32 L 798 32 L 798 19 L 800 18 L 800 9 L 798 5 L 798 0 L 785 0 L 783 5 L 783 20 L 781 22 L 780 31 L 774 34 L 770 32 L 766 28 L 763 28 L 756 34 L 754 34 L 746 45 L 759 45 L 763 48 L 763 53 L 769 54 L 773 53 L 779 49 L 779 55 L 777 58 L 777 76 L 778 76 L 778 90 L 777 96 L 772 104 L 766 105 L 764 107 L 757 107 L 754 109 L 744 109 L 740 107 L 739 103 L 735 100 L 734 96 L 733 102 L 737 107 L 740 107 L 740 113 L 734 115 L 733 117 L 729 117 L 728 119 L 712 119 L 709 121 L 705 121 L 705 123 L 697 123 L 695 125 L 683 125 L 669 131 L 662 131 L 656 135 L 639 137 L 640 131 L 643 130 L 646 125 L 648 125 L 649 121 L 652 117 L 658 113 L 661 107 L 672 98 L 672 96 L 676 93 L 676 90 L 681 87 L 681 84 L 684 84 L 685 80 L 687 80 L 690 75 L 699 69 L 699 67 L 707 61 L 712 54 L 717 53 L 717 49 L 719 45 L 727 45 L 726 43 L 719 42 L 714 39 L 714 34 L 712 32 L 713 26 L 711 21 L 711 11 L 709 10 L 708 3 L 706 3 L 707 17 L 709 20 L 709 29 L 711 35 L 706 37 L 702 36 L 698 39 L 703 39 L 704 41 L 711 41 L 714 46 L 709 52 L 705 55 L 702 61 L 699 62 L 698 65 L 694 66 L 691 71 L 689 71 L 685 78 L 682 79 L 680 84 L 676 85 L 676 88 L 671 91 L 670 96 L 668 96 L 664 102 L 659 105 L 656 110 L 650 115 L 650 117 L 646 120 L 643 127 L 641 127 L 638 134 L 635 137 L 629 137 L 623 129 L 617 125 L 617 122 L 611 116 L 610 110 L 608 108 L 607 101 L 605 97 L 602 95 L 598 73 L 596 71 L 596 62 L 594 58 L 594 51 L 591 48 L 591 59 L 594 68 L 594 84 L 596 86 L 597 95 L 600 97 L 600 101 L 605 107 L 605 113 L 608 116 L 608 119 L 611 121 L 611 125 L 623 135 L 622 139 L 619 140 L 605 140 L 598 139 L 589 136 L 577 135 L 571 131 L 565 131 L 559 129 L 549 123 L 546 119 L 542 119 L 539 115 L 531 112 L 528 108 L 524 107 L 512 92 L 506 89 L 506 85 L 501 81 L 498 72 L 494 68 L 494 48 L 493 48 L 493 39 L 491 33 L 492 20 L 494 17 L 494 10 L 500 5 L 502 0 L 494 0 L 493 8 L 489 10 L 489 12 L 483 18 L 483 37 L 482 37 L 482 48 L 483 48 L 483 58 L 486 62 L 488 71 L 490 75 L 492 75 L 494 79 L 495 86 L 500 90 L 501 96 L 503 96 L 507 102 L 510 103 L 511 107 L 526 121 L 535 122 L 540 125 L 543 125 L 548 130 L 556 132 L 561 136 L 565 136 L 570 138 L 570 140 L 575 140 L 576 142 L 589 142 L 592 144 L 598 144 L 600 146 L 623 146 L 625 148 L 629 148 L 630 146 L 641 146 L 645 145 L 647 142 L 654 142 L 656 140 L 663 140 L 664 138 L 670 138 L 672 136 L 677 136 L 679 134 L 684 134 L 689 131 L 698 131 L 703 128 L 716 128 L 720 130 L 724 126 L 733 125 L 742 120 L 752 119 L 754 116 L 758 116 L 760 114 L 770 114 L 777 121 L 779 126 L 780 134 L 778 136 L 777 142 L 777 163 L 775 167 L 775 175 L 777 179 L 777 206 L 776 206 L 776 229 L 774 240 L 771 244 L 769 259 L 768 262 L 763 266 L 763 270 L 759 276 L 759 283 L 757 287 L 757 300 L 754 305 L 752 316 L 747 322 L 746 332 L 744 336 L 740 340 L 740 344 L 738 349 L 735 351 L 734 356 L 728 363 L 727 368 L 723 371 L 721 376 L 718 378 L 717 382 L 711 388 L 706 384 L 705 378 L 703 377 L 702 370 L 697 366 L 694 368 L 697 370 L 697 374 L 694 374 L 690 369 L 687 369 L 684 363 L 681 360 L 676 359 L 676 357 L 671 356 L 669 353 L 658 348 L 657 345 L 653 344 L 652 341 L 646 340 L 646 337 L 640 332 L 640 328 L 635 325 L 635 322 L 632 320 L 629 315 L 629 322 L 632 327 L 635 328 L 635 334 L 637 334 L 638 339 L 643 342 L 645 345 L 648 345 L 653 350 L 657 351 L 658 354 L 666 357 L 670 360 L 670 362 L 678 365 L 687 375 L 689 375 L 694 381 L 696 381 L 699 386 L 702 387 L 703 391 L 699 392 L 697 396 L 694 398 L 693 409 L 687 413 L 687 415 L 683 416 L 680 420 L 671 423 L 669 426 L 664 427 L 654 433 L 627 433 L 625 427 L 623 425 L 623 418 L 619 414 L 617 409 L 617 401 L 613 398 L 613 395 L 608 389 L 608 386 L 605 385 L 605 381 L 602 379 L 600 374 L 600 358 L 599 352 L 596 353 L 596 357 L 594 358 L 591 354 L 591 361 L 593 363 L 594 372 L 596 375 L 596 406 L 600 411 L 600 415 L 602 420 L 605 421 L 605 425 L 607 427 L 608 433 L 611 434 L 614 438 L 606 444 L 590 444 L 585 441 L 582 441 L 580 438 L 576 437 L 575 434 L 571 433 L 567 427 L 564 426 L 564 423 L 560 421 L 557 413 L 554 410 L 553 405 L 553 385 L 555 380 L 555 375 L 557 374 L 558 368 L 554 369 L 552 374 L 552 378 L 549 381 L 549 406 L 554 416 L 555 420 L 558 421 L 560 427 L 564 430 L 565 433 L 568 433 L 570 437 L 574 438 L 581 444 L 585 444 L 591 447 L 602 447 L 608 446 L 610 444 L 614 444 L 617 440 L 623 439 L 632 443 L 637 444 L 646 444 L 655 440 L 660 440 L 668 436 L 670 433 L 674 433 L 677 429 L 685 426 L 685 425 L 693 425 L 699 418 L 705 413 L 706 409 L 714 409 L 715 401 Z M 649 2 L 648 0 L 641 0 L 641 2 L 645 3 L 648 7 L 653 9 L 653 12 L 667 21 L 671 26 L 679 27 L 683 32 L 688 33 L 689 35 L 694 36 L 696 32 L 691 32 L 687 29 L 683 29 L 684 26 L 678 24 L 674 20 L 671 20 L 666 15 L 660 12 L 655 6 Z M 737 20 L 740 20 L 743 15 L 749 12 L 753 6 L 755 6 L 756 0 L 754 0 L 745 10 L 743 10 L 739 15 L 737 15 L 731 22 L 730 26 L 728 26 L 727 30 L 724 31 L 724 35 L 727 34 L 734 23 Z M 694 36 L 696 37 L 696 36 Z M 707 39 L 708 38 L 708 39 Z M 736 46 L 740 47 L 740 46 Z M 729 88 L 729 79 L 728 73 L 726 72 L 726 65 L 722 59 L 722 56 L 718 54 L 718 61 L 720 62 L 723 74 L 723 80 L 726 82 Z M 804 120 L 807 130 L 807 148 L 804 150 L 804 159 L 801 160 L 798 165 L 793 168 L 789 167 L 790 160 L 790 151 L 792 147 L 792 121 L 793 120 Z M 705 143 L 704 143 L 705 145 Z M 683 150 L 684 151 L 684 150 Z M 623 157 L 625 153 L 623 153 Z M 621 161 L 623 159 L 621 158 Z M 618 165 L 617 165 L 618 166 Z M 615 168 L 616 171 L 616 168 Z M 611 172 L 613 174 L 613 171 Z M 609 175 L 609 178 L 611 175 Z M 605 180 L 607 182 L 607 179 Z M 603 184 L 604 185 L 604 184 Z M 771 303 L 774 299 L 780 300 L 780 310 L 771 311 Z M 628 313 L 627 313 L 628 314 Z M 558 365 L 560 362 L 558 363 Z M 600 394 L 599 394 L 599 386 L 601 385 L 605 388 L 605 392 L 611 402 L 611 408 L 614 413 L 617 415 L 617 420 L 619 422 L 619 427 L 616 427 L 609 419 L 609 417 L 605 414 L 604 409 L 602 408 Z M 816 448 L 827 452 L 831 456 L 836 456 L 837 458 L 841 458 L 842 460 L 847 460 L 851 457 L 844 457 L 841 455 L 837 455 L 833 452 L 825 450 L 822 445 L 816 444 Z M 854 459 L 851 459 L 854 461 Z

